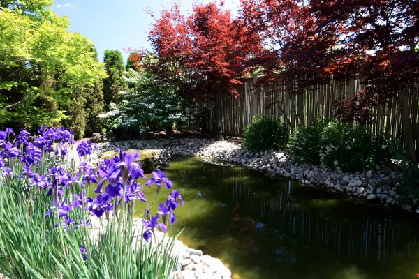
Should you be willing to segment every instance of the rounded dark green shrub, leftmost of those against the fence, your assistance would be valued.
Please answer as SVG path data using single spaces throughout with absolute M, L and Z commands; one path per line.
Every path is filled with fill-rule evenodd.
M 288 140 L 285 126 L 272 116 L 253 116 L 252 123 L 244 128 L 244 146 L 250 151 L 284 149 Z

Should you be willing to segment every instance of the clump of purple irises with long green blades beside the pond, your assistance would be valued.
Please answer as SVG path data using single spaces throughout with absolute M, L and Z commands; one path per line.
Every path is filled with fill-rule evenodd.
M 94 146 L 73 133 L 41 127 L 36 135 L 0 131 L 0 273 L 8 278 L 170 278 L 174 239 L 158 243 L 156 229 L 175 223 L 183 200 L 161 171 L 147 181 L 138 153 L 88 163 Z M 143 182 L 143 183 L 141 183 Z M 147 209 L 144 227 L 133 228 L 135 202 L 147 202 L 142 188 L 170 190 L 156 216 Z M 97 195 L 89 197 L 89 189 Z M 164 192 L 164 191 L 163 191 Z M 147 206 L 148 208 L 148 206 Z M 105 220 L 104 220 L 105 219 Z M 103 224 L 92 227 L 94 220 Z

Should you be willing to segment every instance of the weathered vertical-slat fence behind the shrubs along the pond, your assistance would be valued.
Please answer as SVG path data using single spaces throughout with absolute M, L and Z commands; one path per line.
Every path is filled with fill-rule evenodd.
M 286 123 L 290 130 L 298 125 L 310 125 L 319 118 L 334 120 L 337 117 L 339 100 L 351 98 L 362 89 L 360 80 L 348 83 L 332 80 L 330 84 L 321 84 L 295 94 L 283 83 L 253 86 L 257 81 L 257 77 L 243 80 L 243 84 L 237 85 L 239 93 L 237 97 L 220 92 L 214 101 L 208 101 L 206 104 L 209 108 L 208 130 L 240 137 L 244 127 L 251 123 L 252 116 L 256 114 L 274 116 Z M 370 124 L 369 128 L 373 134 L 385 132 L 403 142 L 405 128 L 399 110 L 399 101 L 396 98 L 389 101 L 390 105 L 378 106 L 372 111 L 374 123 Z M 407 105 L 416 142 L 416 154 L 418 154 L 419 84 L 409 92 Z M 187 112 L 191 113 L 190 110 Z M 197 123 L 188 121 L 186 127 L 198 128 Z

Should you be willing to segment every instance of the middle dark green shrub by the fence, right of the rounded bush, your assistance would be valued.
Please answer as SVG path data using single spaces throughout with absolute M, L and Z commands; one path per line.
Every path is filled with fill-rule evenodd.
M 320 165 L 320 150 L 323 146 L 323 129 L 328 123 L 315 121 L 311 126 L 298 126 L 291 134 L 290 152 L 295 160 L 307 165 Z

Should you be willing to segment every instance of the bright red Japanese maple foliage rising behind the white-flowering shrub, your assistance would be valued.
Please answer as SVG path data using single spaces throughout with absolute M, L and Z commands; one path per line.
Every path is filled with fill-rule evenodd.
M 240 83 L 237 78 L 254 47 L 245 33 L 230 11 L 212 2 L 196 4 L 188 17 L 180 14 L 177 5 L 163 10 L 149 40 L 161 63 L 174 63 L 182 70 L 186 96 L 208 98 L 219 91 L 237 93 L 234 85 Z

